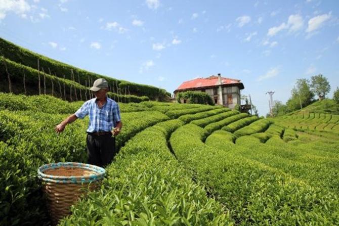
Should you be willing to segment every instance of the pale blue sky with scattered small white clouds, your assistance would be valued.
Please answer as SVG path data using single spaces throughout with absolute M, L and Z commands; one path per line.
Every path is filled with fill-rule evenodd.
M 221 73 L 260 115 L 296 79 L 339 86 L 339 1 L 0 0 L 0 36 L 102 75 L 165 88 Z

